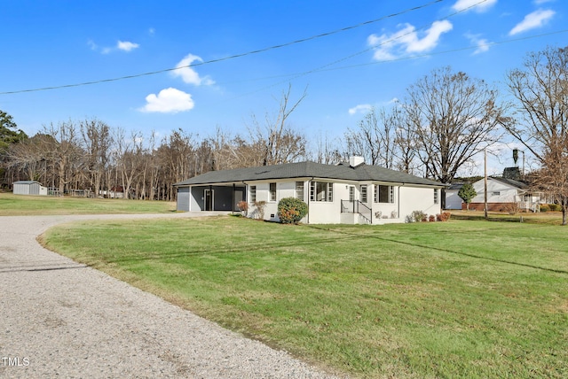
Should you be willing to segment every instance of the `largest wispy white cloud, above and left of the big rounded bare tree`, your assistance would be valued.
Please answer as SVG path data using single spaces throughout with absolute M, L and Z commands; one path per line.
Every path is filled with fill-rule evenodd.
M 406 24 L 403 29 L 391 35 L 369 35 L 367 43 L 376 46 L 373 56 L 376 60 L 388 60 L 395 58 L 396 55 L 402 55 L 403 52 L 417 53 L 434 49 L 438 45 L 440 36 L 453 27 L 448 20 L 435 21 L 420 38 L 416 28 Z

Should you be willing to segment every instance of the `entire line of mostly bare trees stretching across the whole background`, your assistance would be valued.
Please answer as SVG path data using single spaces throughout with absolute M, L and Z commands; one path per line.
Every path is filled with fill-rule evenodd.
M 341 142 L 306 136 L 288 123 L 296 101 L 282 92 L 277 112 L 252 117 L 247 135 L 217 128 L 199 138 L 175 130 L 157 136 L 126 133 L 101 120 L 65 121 L 29 137 L 0 113 L 2 183 L 38 180 L 61 193 L 121 188 L 127 197 L 172 200 L 172 184 L 210 170 L 263 166 L 303 159 L 335 163 L 362 155 L 372 165 L 449 184 L 474 156 L 512 135 L 540 162 L 534 189 L 568 206 L 568 48 L 526 55 L 506 75 L 512 100 L 489 83 L 441 67 L 406 89 L 390 109 L 371 109 Z M 312 142 L 313 143 L 313 142 Z

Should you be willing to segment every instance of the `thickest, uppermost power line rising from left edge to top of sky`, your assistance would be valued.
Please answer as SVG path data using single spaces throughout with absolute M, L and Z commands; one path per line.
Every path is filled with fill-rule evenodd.
M 390 18 L 401 16 L 405 13 L 418 11 L 420 9 L 429 7 L 430 5 L 433 5 L 433 4 L 441 3 L 443 1 L 444 0 L 432 0 L 432 1 L 430 1 L 430 3 L 418 5 L 418 6 L 415 6 L 413 8 L 408 8 L 408 9 L 401 11 L 401 12 L 391 13 L 390 15 L 383 16 L 379 19 L 371 19 L 371 20 L 368 20 L 368 21 L 360 22 L 359 24 L 353 25 L 351 27 L 342 27 L 340 29 L 335 29 L 331 32 L 326 32 L 326 33 L 322 33 L 322 34 L 319 34 L 319 35 L 312 35 L 310 37 L 302 38 L 302 39 L 299 39 L 299 40 L 296 40 L 296 41 L 292 41 L 292 42 L 288 42 L 288 43 L 281 43 L 281 44 L 273 45 L 273 46 L 270 46 L 270 47 L 267 47 L 267 48 L 264 48 L 264 49 L 251 50 L 251 51 L 247 51 L 247 52 L 244 52 L 244 53 L 227 56 L 227 57 L 224 57 L 224 58 L 211 59 L 211 60 L 198 62 L 198 63 L 186 65 L 186 66 L 165 68 L 165 69 L 162 69 L 162 70 L 151 71 L 151 72 L 147 72 L 147 73 L 134 73 L 134 74 L 131 74 L 131 75 L 119 76 L 119 77 L 116 77 L 116 78 L 101 79 L 101 80 L 98 80 L 98 81 L 83 81 L 81 83 L 63 84 L 63 85 L 59 85 L 59 86 L 43 87 L 43 88 L 38 88 L 38 89 L 19 89 L 19 90 L 13 90 L 13 91 L 4 91 L 4 92 L 0 92 L 0 95 L 12 95 L 12 94 L 25 93 L 25 92 L 38 92 L 38 91 L 52 90 L 52 89 L 67 89 L 67 88 L 72 88 L 72 87 L 88 86 L 88 85 L 92 85 L 92 84 L 101 84 L 101 83 L 106 83 L 106 82 L 110 82 L 110 81 L 123 81 L 123 80 L 126 80 L 126 79 L 134 79 L 134 78 L 140 78 L 140 77 L 143 77 L 143 76 L 155 75 L 155 74 L 158 74 L 158 73 L 168 73 L 168 72 L 171 72 L 171 71 L 180 70 L 182 68 L 209 65 L 211 63 L 222 62 L 222 61 L 229 60 L 229 59 L 242 58 L 242 57 L 246 57 L 248 55 L 259 54 L 259 53 L 269 51 L 269 50 L 276 50 L 276 49 L 291 46 L 291 45 L 294 45 L 294 44 L 297 44 L 297 43 L 304 43 L 304 42 L 312 41 L 312 40 L 315 40 L 315 39 L 318 39 L 318 38 L 321 38 L 321 37 L 326 37 L 326 36 L 329 36 L 329 35 L 335 35 L 335 34 L 342 33 L 342 32 L 345 32 L 345 31 L 348 31 L 348 30 L 351 30 L 351 29 L 355 29 L 357 27 L 363 27 L 363 26 L 366 26 L 366 25 L 374 24 L 376 22 L 383 21 L 384 19 L 390 19 Z M 478 4 L 484 3 L 485 1 L 487 1 L 487 0 L 483 0 Z

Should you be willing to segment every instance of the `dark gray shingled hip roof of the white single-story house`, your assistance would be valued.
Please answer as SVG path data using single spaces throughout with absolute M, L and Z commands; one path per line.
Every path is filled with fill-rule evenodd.
M 419 178 L 411 174 L 401 173 L 380 166 L 368 166 L 361 164 L 351 167 L 346 164 L 322 165 L 306 161 L 299 163 L 286 163 L 276 166 L 260 166 L 237 168 L 234 170 L 209 171 L 209 173 L 194 176 L 183 182 L 177 182 L 175 186 L 193 184 L 213 184 L 248 181 L 265 181 L 292 178 L 319 178 L 338 179 L 345 181 L 373 181 L 373 182 L 396 182 L 406 184 L 422 184 L 430 186 L 443 186 L 439 182 Z

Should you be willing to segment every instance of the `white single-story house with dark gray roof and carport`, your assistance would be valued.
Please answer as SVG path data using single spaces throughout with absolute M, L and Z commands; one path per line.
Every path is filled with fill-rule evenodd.
M 380 166 L 360 157 L 349 163 L 322 165 L 305 161 L 275 166 L 210 171 L 177 187 L 178 211 L 239 211 L 248 203 L 248 217 L 278 221 L 278 202 L 297 197 L 308 205 L 303 222 L 383 224 L 405 222 L 414 211 L 441 213 L 444 184 Z

